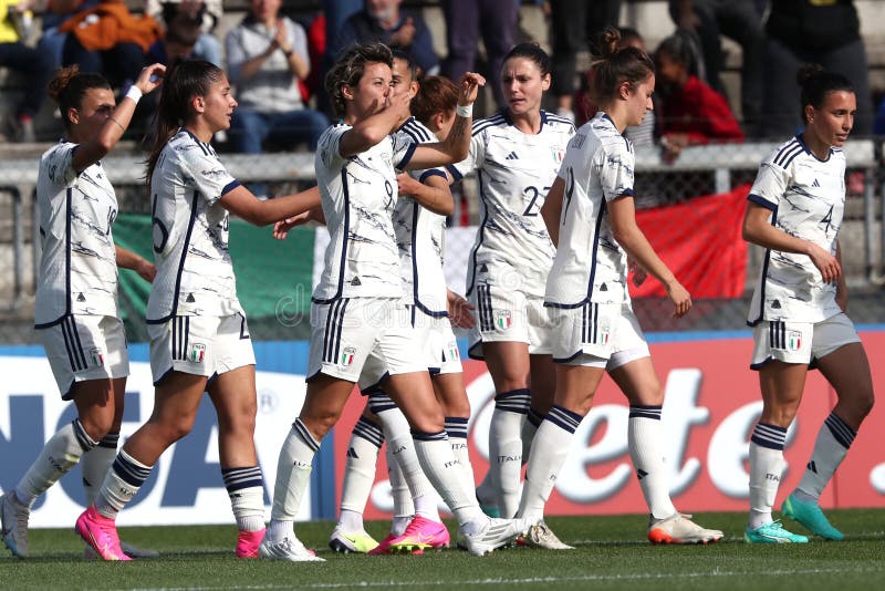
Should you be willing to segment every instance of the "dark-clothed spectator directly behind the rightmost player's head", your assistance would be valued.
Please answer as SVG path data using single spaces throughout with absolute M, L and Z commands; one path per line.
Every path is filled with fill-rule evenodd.
M 762 112 L 767 135 L 793 134 L 802 123 L 795 108 L 800 100 L 795 73 L 806 63 L 821 64 L 851 81 L 857 97 L 852 133 L 868 135 L 872 132 L 873 97 L 867 80 L 866 50 L 852 0 L 771 0 L 766 33 Z

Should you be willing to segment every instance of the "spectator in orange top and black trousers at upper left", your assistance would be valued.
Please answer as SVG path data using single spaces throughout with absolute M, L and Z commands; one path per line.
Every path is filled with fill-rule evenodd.
M 67 19 L 59 31 L 71 33 L 64 40 L 64 65 L 98 72 L 124 90 L 138 77 L 145 52 L 162 34 L 157 21 L 131 14 L 123 0 L 100 0 Z

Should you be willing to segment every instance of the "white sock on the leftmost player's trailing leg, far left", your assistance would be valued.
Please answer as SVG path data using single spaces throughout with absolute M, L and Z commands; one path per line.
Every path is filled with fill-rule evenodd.
M 15 497 L 22 505 L 31 507 L 37 497 L 67 474 L 80 462 L 80 457 L 96 445 L 98 442 L 86 434 L 79 418 L 64 425 L 46 442 L 43 450 L 24 473 L 15 487 Z

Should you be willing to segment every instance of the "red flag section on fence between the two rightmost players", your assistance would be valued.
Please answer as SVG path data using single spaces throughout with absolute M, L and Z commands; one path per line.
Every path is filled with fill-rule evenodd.
M 747 242 L 741 238 L 750 185 L 720 195 L 644 209 L 636 222 L 648 241 L 693 298 L 740 298 L 747 279 Z M 649 278 L 633 298 L 666 297 L 664 287 Z

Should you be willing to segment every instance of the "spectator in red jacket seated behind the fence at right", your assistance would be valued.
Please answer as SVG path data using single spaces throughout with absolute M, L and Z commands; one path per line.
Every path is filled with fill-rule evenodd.
M 660 42 L 655 52 L 658 129 L 665 157 L 676 158 L 693 144 L 742 142 L 741 131 L 726 97 L 689 74 L 691 53 L 684 32 Z

